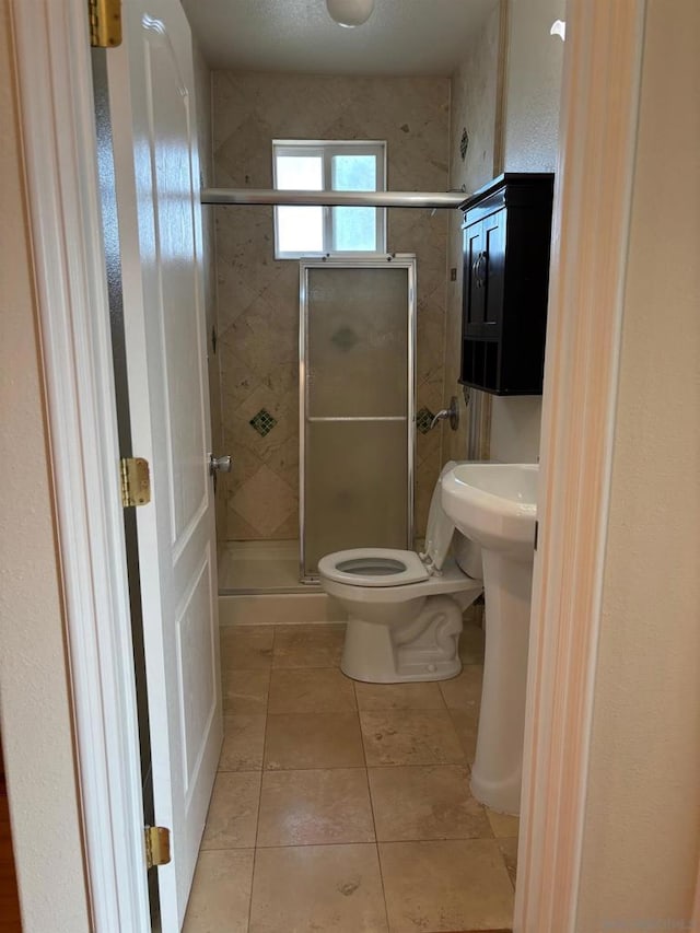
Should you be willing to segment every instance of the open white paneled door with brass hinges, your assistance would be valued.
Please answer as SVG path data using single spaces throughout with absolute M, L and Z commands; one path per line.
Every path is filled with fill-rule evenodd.
M 107 54 L 164 933 L 180 929 L 222 735 L 199 162 L 189 26 L 177 0 L 126 0 Z

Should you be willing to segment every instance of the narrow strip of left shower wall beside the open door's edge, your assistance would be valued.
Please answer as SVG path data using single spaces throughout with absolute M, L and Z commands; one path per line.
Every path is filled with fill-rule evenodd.
M 199 171 L 202 188 L 214 183 L 211 70 L 192 36 L 192 63 L 195 68 L 195 97 L 197 102 L 197 136 L 199 140 Z M 211 446 L 215 456 L 233 451 L 224 450 L 223 418 L 221 412 L 221 368 L 219 365 L 219 314 L 217 305 L 217 267 L 214 237 L 214 208 L 202 206 L 202 260 L 205 307 L 207 312 L 207 352 L 209 358 L 209 407 L 211 412 Z M 220 474 L 217 482 L 217 540 L 226 540 L 226 477 Z

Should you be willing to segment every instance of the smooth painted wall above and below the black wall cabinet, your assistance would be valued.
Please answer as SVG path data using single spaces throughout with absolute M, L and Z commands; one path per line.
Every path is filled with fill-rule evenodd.
M 503 121 L 504 172 L 553 172 L 564 44 L 549 30 L 565 0 L 510 0 Z M 491 457 L 529 463 L 539 453 L 541 398 L 493 398 Z

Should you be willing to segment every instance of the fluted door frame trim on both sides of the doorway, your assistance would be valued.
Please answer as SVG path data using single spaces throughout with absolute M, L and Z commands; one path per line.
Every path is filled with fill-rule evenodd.
M 138 933 L 150 921 L 85 3 L 11 3 L 94 929 Z M 568 9 L 517 933 L 575 926 L 644 11 Z

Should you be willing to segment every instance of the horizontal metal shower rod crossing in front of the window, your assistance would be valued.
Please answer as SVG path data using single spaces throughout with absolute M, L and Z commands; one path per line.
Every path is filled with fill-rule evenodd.
M 458 208 L 464 191 L 280 191 L 272 188 L 205 188 L 202 205 L 292 205 L 359 208 Z

